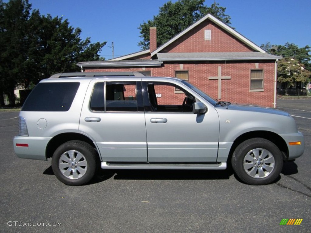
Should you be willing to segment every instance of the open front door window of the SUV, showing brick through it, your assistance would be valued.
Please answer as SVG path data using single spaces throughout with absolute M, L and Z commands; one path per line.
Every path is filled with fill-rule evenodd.
M 152 112 L 193 112 L 194 96 L 170 83 L 148 83 L 148 96 Z

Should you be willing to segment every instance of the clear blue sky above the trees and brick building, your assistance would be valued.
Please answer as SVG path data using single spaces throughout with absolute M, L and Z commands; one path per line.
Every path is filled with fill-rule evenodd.
M 8 1 L 4 1 L 8 2 Z M 141 50 L 139 27 L 152 20 L 159 7 L 168 0 L 29 0 L 41 15 L 68 19 L 71 26 L 81 28 L 81 39 L 104 42 L 100 55 L 112 58 Z M 172 2 L 176 2 L 173 0 Z M 208 7 L 214 0 L 206 0 Z M 217 0 L 231 17 L 231 26 L 253 43 L 284 45 L 294 43 L 311 46 L 310 0 Z

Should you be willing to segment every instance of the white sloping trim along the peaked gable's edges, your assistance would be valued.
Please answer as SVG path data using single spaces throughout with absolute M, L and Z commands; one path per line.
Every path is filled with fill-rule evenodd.
M 190 30 L 192 30 L 193 28 L 195 28 L 197 25 L 199 25 L 200 23 L 202 23 L 203 21 L 209 19 L 210 21 L 212 21 L 213 23 L 215 23 L 216 25 L 218 25 L 220 28 L 222 28 L 223 30 L 225 30 L 226 32 L 228 32 L 229 34 L 233 35 L 235 38 L 239 39 L 240 41 L 244 42 L 246 45 L 248 45 L 249 47 L 253 48 L 255 51 L 261 52 L 261 53 L 266 53 L 262 48 L 260 48 L 258 45 L 256 45 L 255 43 L 253 43 L 252 41 L 250 41 L 249 39 L 247 39 L 246 37 L 244 37 L 243 35 L 239 34 L 237 31 L 233 30 L 231 27 L 229 27 L 228 25 L 224 24 L 223 22 L 221 22 L 220 20 L 216 19 L 214 16 L 212 16 L 211 14 L 207 14 L 206 16 L 204 16 L 202 19 L 198 20 L 197 22 L 195 22 L 193 25 L 189 26 L 188 28 L 186 28 L 185 30 L 183 30 L 182 32 L 180 32 L 179 34 L 177 34 L 176 36 L 174 36 L 172 39 L 170 39 L 169 41 L 167 41 L 166 43 L 162 44 L 159 48 L 157 48 L 155 51 L 153 51 L 151 53 L 151 57 L 153 57 L 154 55 L 156 55 L 157 53 L 159 53 L 161 50 L 163 50 L 164 48 L 166 48 L 167 46 L 169 46 L 171 43 L 173 43 L 174 41 L 176 41 L 177 39 L 179 39 L 180 37 L 182 37 L 184 34 L 186 34 L 187 32 L 189 32 Z

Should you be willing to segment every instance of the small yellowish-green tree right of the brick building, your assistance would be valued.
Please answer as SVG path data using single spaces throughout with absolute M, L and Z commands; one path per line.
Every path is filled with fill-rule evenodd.
M 307 81 L 311 72 L 305 70 L 299 60 L 285 57 L 278 62 L 277 75 L 279 82 L 287 83 L 285 91 L 285 95 L 287 95 L 287 89 L 290 86 L 294 86 L 295 82 Z

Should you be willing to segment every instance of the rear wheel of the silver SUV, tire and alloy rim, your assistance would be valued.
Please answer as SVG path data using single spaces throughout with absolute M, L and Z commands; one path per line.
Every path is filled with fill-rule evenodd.
M 54 151 L 52 169 L 58 180 L 65 185 L 85 185 L 95 175 L 97 156 L 90 144 L 78 140 L 68 141 Z

